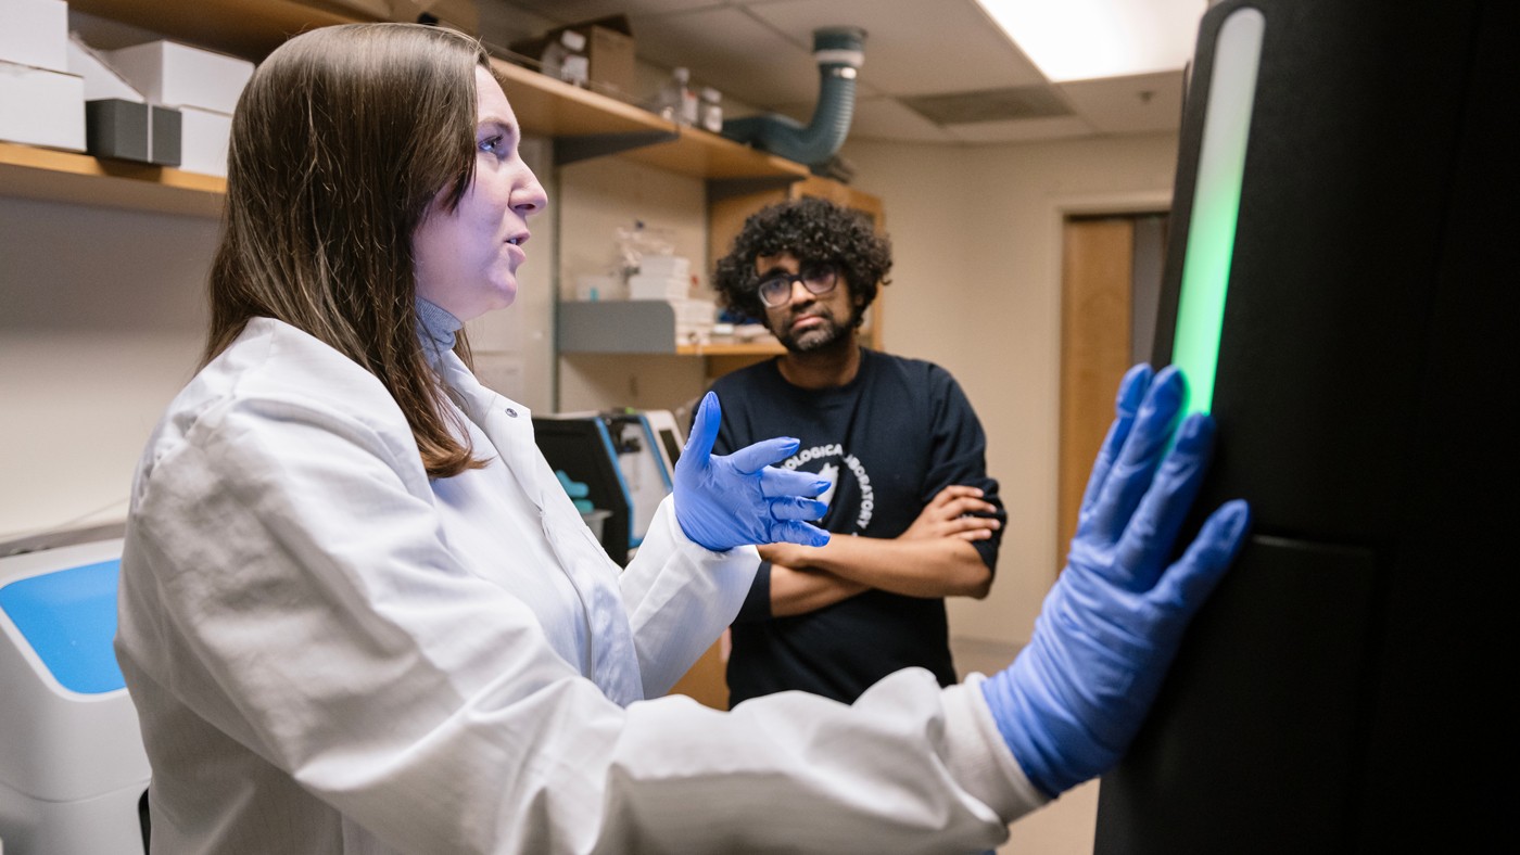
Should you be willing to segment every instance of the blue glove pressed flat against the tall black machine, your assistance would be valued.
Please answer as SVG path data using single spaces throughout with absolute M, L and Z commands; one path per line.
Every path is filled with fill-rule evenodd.
M 1003 741 L 1050 797 L 1119 761 L 1187 621 L 1245 539 L 1246 504 L 1225 503 L 1163 573 L 1213 446 L 1213 419 L 1193 415 L 1167 453 L 1184 389 L 1175 368 L 1154 381 L 1149 366 L 1125 375 L 1067 566 L 1029 645 L 982 683 Z

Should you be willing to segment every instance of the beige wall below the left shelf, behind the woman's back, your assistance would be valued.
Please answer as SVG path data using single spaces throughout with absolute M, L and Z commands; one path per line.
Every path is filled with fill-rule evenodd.
M 0 197 L 0 541 L 125 518 L 201 352 L 216 229 Z

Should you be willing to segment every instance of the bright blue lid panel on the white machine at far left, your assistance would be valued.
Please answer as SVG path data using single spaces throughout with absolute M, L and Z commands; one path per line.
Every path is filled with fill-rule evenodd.
M 0 588 L 0 610 L 68 691 L 103 694 L 126 688 L 111 647 L 120 569 L 120 559 L 112 559 Z

